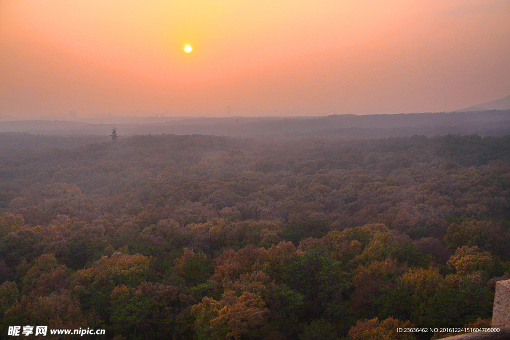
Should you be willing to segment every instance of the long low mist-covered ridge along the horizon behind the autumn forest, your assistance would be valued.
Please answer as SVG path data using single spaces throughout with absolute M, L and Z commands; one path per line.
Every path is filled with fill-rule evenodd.
M 121 137 L 174 134 L 247 137 L 265 140 L 268 138 L 306 137 L 370 139 L 449 134 L 504 136 L 510 135 L 510 110 L 362 116 L 347 114 L 322 117 L 186 118 L 159 122 L 118 121 L 97 124 L 66 121 L 10 121 L 0 122 L 0 133 L 109 136 L 113 126 L 116 127 L 117 134 Z

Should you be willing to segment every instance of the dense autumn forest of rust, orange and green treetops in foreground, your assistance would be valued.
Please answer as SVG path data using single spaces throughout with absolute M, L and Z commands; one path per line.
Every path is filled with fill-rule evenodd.
M 510 278 L 510 137 L 0 140 L 3 338 L 437 339 Z

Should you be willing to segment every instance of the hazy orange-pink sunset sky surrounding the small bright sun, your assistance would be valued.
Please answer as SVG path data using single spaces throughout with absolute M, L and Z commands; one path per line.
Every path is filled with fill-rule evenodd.
M 0 82 L 15 117 L 451 111 L 510 94 L 510 0 L 0 0 Z

